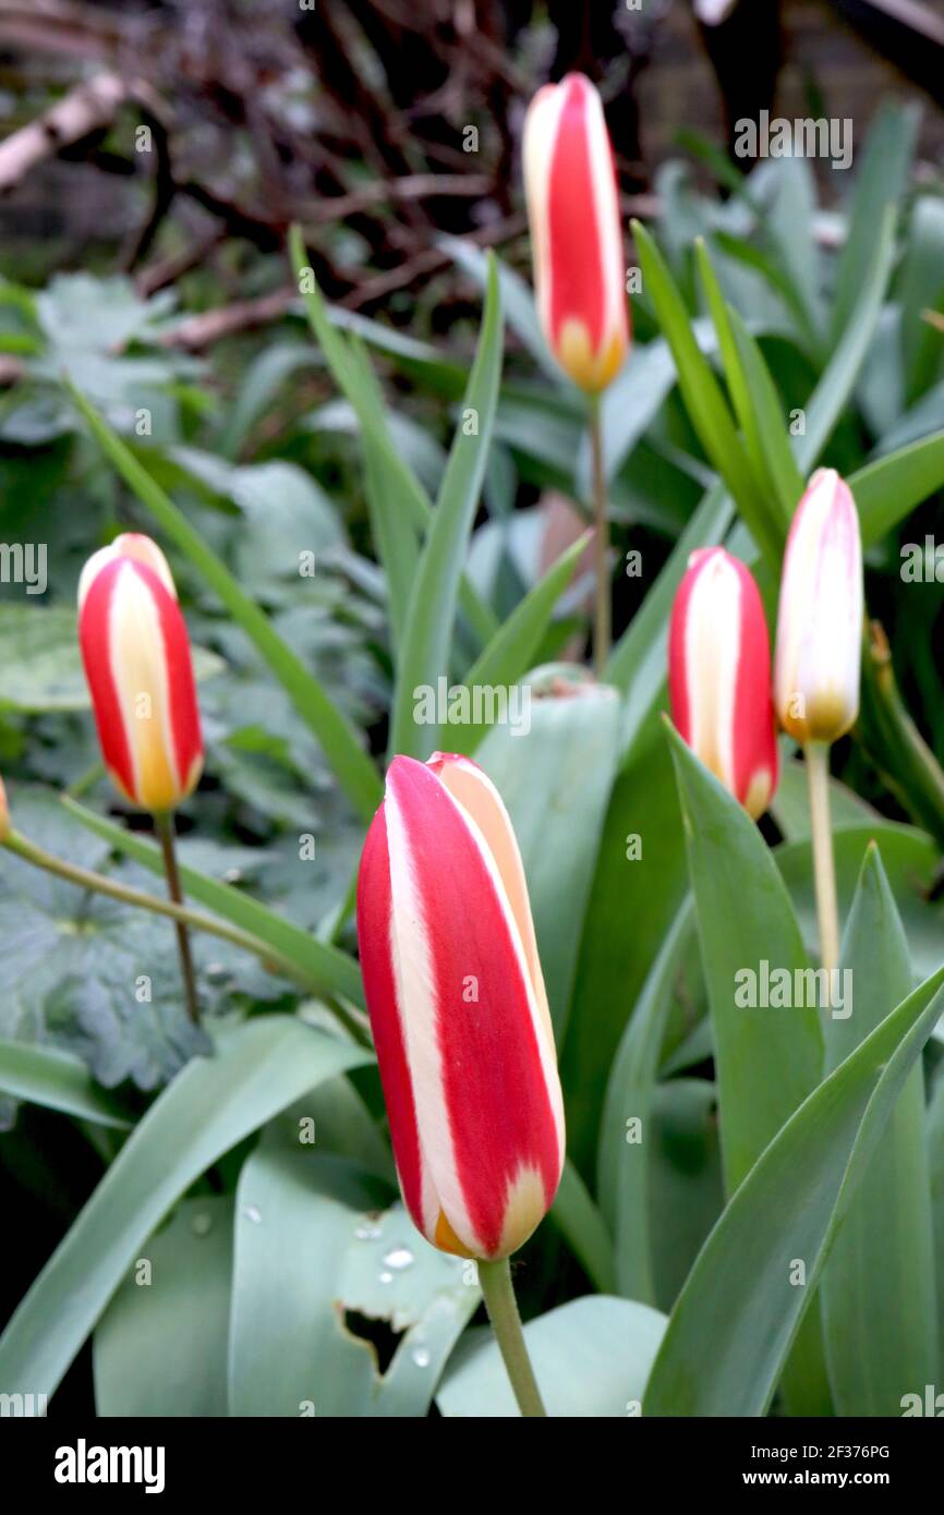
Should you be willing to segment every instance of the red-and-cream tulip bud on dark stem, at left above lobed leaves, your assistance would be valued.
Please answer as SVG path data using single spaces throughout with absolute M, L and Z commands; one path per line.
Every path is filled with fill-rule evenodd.
M 79 641 L 108 771 L 142 811 L 173 811 L 203 768 L 189 639 L 167 559 L 126 533 L 79 579 Z

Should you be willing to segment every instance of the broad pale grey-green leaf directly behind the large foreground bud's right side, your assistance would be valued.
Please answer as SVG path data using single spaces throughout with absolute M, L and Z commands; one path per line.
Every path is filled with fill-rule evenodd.
M 529 727 L 495 726 L 477 761 L 505 800 L 518 838 L 555 1035 L 562 1042 L 615 771 L 620 701 L 612 689 L 591 683 L 562 685 L 547 695 L 527 685 L 526 692 L 533 695 Z

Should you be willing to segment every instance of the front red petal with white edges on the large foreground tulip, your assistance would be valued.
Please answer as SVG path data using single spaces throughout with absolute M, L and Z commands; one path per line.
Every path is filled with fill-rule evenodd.
M 392 1000 L 423 1162 L 458 1244 L 505 1254 L 545 1212 L 561 1176 L 553 1048 L 549 1068 L 521 933 L 471 815 L 408 758 L 389 768 L 383 812 Z M 368 1004 L 373 1021 L 370 991 Z M 423 1229 L 429 1236 L 426 1214 Z

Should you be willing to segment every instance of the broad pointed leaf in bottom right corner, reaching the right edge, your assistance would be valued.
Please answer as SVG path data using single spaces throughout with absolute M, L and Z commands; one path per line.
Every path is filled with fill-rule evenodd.
M 836 1226 L 941 1014 L 941 983 L 944 971 L 899 1004 L 752 1168 L 671 1312 L 644 1415 L 765 1413 Z

